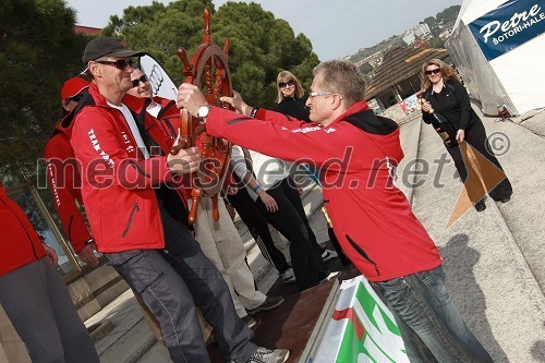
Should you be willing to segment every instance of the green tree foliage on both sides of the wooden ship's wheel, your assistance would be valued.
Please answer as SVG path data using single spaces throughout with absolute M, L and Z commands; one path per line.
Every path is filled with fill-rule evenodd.
M 130 7 L 123 16 L 111 16 L 104 35 L 118 36 L 128 46 L 149 52 L 161 63 L 174 83 L 182 81 L 177 49 L 191 56 L 202 41 L 203 9 L 213 13 L 214 40 L 220 47 L 231 40 L 229 68 L 234 89 L 253 105 L 271 107 L 278 72 L 293 72 L 306 86 L 318 63 L 312 44 L 304 35 L 295 37 L 291 26 L 275 19 L 256 3 L 227 2 L 215 11 L 208 0 L 179 0 L 164 5 Z

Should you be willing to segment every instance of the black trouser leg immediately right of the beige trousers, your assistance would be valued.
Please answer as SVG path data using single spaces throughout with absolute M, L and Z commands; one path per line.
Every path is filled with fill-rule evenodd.
M 286 261 L 286 256 L 280 252 L 272 241 L 270 235 L 267 217 L 257 207 L 244 186 L 239 189 L 234 195 L 228 195 L 227 199 L 237 209 L 240 218 L 246 225 L 252 237 L 262 243 L 257 243 L 262 254 L 267 258 L 280 274 L 286 271 L 290 266 Z M 265 249 L 265 251 L 263 251 Z

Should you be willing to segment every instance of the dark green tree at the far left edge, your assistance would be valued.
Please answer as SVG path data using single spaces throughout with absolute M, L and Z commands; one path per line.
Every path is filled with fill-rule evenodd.
M 0 7 L 0 174 L 34 177 L 62 83 L 82 71 L 87 38 L 63 0 L 5 0 Z

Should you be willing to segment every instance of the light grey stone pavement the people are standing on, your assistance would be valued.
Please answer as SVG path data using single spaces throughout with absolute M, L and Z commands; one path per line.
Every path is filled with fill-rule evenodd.
M 440 249 L 452 299 L 494 361 L 545 362 L 545 112 L 514 122 L 495 121 L 483 118 L 513 184 L 509 203 L 488 198 L 485 211 L 471 208 L 447 227 L 462 185 L 455 178 L 452 162 L 438 171 L 434 160 L 446 153 L 445 147 L 415 114 L 400 122 L 405 157 L 399 166 L 398 184 Z M 415 164 L 416 159 L 421 161 Z M 427 171 L 415 173 L 416 166 L 426 166 Z M 326 241 L 319 189 L 308 186 L 306 193 L 303 202 L 311 223 L 318 241 Z M 258 287 L 267 291 L 278 275 L 243 225 L 240 231 Z M 96 343 L 102 362 L 170 362 L 130 291 L 86 325 L 98 322 L 111 328 Z

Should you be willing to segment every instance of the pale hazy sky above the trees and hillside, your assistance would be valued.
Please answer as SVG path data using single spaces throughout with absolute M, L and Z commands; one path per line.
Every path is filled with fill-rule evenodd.
M 170 1 L 160 1 L 169 3 Z M 213 0 L 216 9 L 227 0 Z M 250 2 L 250 1 L 246 1 Z M 275 17 L 303 33 L 322 61 L 343 58 L 400 35 L 427 16 L 462 0 L 254 0 Z M 123 9 L 149 5 L 152 0 L 66 0 L 76 11 L 78 25 L 104 27 L 110 15 Z M 214 26 L 214 19 L 213 19 Z M 214 27 L 213 27 L 214 31 Z

